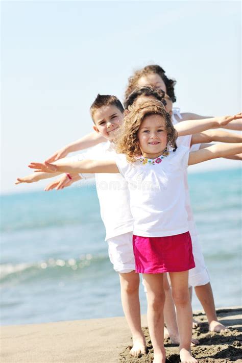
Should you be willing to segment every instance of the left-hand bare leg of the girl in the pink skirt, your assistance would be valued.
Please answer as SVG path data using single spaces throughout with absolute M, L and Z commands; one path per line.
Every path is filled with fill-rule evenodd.
M 165 363 L 163 274 L 143 274 L 143 280 L 147 288 L 147 320 L 154 349 L 153 363 Z

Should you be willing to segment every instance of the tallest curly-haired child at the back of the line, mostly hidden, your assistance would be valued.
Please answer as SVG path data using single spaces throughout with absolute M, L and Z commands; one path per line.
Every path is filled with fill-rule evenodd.
M 184 120 L 197 120 L 202 118 L 207 118 L 208 116 L 201 116 L 191 112 L 180 112 L 179 108 L 172 108 L 172 103 L 176 102 L 176 95 L 175 95 L 175 85 L 176 81 L 173 78 L 167 77 L 165 70 L 155 64 L 155 65 L 147 65 L 141 69 L 136 70 L 133 75 L 128 79 L 128 86 L 125 91 L 125 103 L 130 98 L 130 93 L 132 93 L 135 88 L 152 85 L 158 89 L 163 90 L 166 95 L 168 96 L 167 107 L 171 106 L 171 117 L 173 124 L 177 124 Z M 171 103 L 171 105 L 170 105 Z M 196 121 L 195 121 L 196 122 Z M 241 130 L 241 120 L 234 120 L 233 122 L 229 123 L 227 126 L 223 126 L 223 128 L 231 129 L 231 130 Z M 224 137 L 225 136 L 225 137 Z M 184 146 L 192 147 L 192 151 L 196 151 L 202 149 L 206 145 L 205 143 L 211 141 L 222 141 L 224 142 L 234 142 L 228 139 L 229 135 L 225 131 L 221 129 L 216 130 L 208 130 L 205 133 L 185 136 L 179 138 L 178 144 L 183 144 Z M 236 136 L 236 135 L 233 135 Z M 237 135 L 237 139 L 239 139 L 240 135 Z M 209 140 L 210 139 L 210 140 Z M 236 140 L 236 139 L 235 139 Z M 240 142 L 239 140 L 235 142 Z M 241 155 L 233 155 L 229 156 L 229 159 L 241 159 Z M 186 178 L 187 179 L 187 178 Z M 187 183 L 187 180 L 186 180 Z M 191 220 L 189 231 L 192 236 L 192 245 L 193 251 L 195 251 L 195 259 L 196 259 L 196 268 L 189 272 L 189 286 L 190 286 L 190 293 L 192 292 L 192 287 L 195 289 L 196 295 L 206 313 L 208 319 L 208 328 L 210 331 L 216 332 L 223 332 L 226 330 L 226 327 L 219 322 L 216 315 L 215 310 L 215 302 L 213 298 L 212 286 L 210 283 L 210 276 L 208 270 L 205 265 L 205 261 L 202 255 L 202 248 L 199 242 L 198 231 L 193 220 L 192 209 L 189 202 L 189 191 L 188 191 L 188 184 L 186 185 L 187 188 L 187 207 L 189 208 L 188 218 Z M 172 324 L 175 326 L 175 324 Z M 196 326 L 196 322 L 195 322 Z M 168 329 L 169 334 L 173 334 L 172 330 Z M 175 330 L 174 330 L 175 331 Z

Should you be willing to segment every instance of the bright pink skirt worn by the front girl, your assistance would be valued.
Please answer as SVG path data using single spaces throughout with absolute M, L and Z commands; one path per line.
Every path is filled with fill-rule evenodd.
M 193 269 L 189 232 L 166 237 L 133 235 L 135 271 L 141 274 L 161 274 Z

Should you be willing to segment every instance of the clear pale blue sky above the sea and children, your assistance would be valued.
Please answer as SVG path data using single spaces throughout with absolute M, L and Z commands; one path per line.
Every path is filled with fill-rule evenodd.
M 1 8 L 3 192 L 45 185 L 14 181 L 30 173 L 30 161 L 90 132 L 96 94 L 123 100 L 128 77 L 145 65 L 160 64 L 177 80 L 182 111 L 241 108 L 240 2 L 2 1 Z

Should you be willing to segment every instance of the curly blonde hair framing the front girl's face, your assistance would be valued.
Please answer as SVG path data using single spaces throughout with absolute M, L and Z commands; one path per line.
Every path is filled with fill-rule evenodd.
M 135 162 L 136 158 L 141 155 L 141 149 L 138 142 L 138 130 L 143 119 L 149 115 L 160 115 L 165 120 L 165 130 L 167 132 L 167 146 L 177 149 L 176 139 L 177 131 L 172 124 L 171 116 L 165 110 L 160 101 L 151 100 L 129 107 L 129 113 L 125 116 L 123 125 L 119 129 L 118 137 L 115 140 L 116 152 L 125 154 L 127 161 Z

